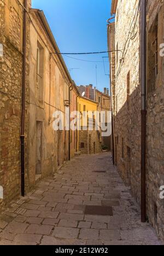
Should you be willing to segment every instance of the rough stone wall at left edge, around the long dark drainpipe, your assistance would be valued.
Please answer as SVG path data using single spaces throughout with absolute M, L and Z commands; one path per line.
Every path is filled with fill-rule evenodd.
M 24 1 L 20 1 L 21 4 Z M 31 1 L 28 0 L 28 10 Z M 0 43 L 3 56 L 0 57 L 0 186 L 3 199 L 0 206 L 20 194 L 20 124 L 22 92 L 22 36 L 23 9 L 18 1 L 0 1 Z M 27 18 L 27 58 L 30 48 L 30 20 Z M 26 65 L 28 79 L 29 63 Z M 26 101 L 29 101 L 28 80 L 26 81 Z M 25 173 L 28 156 L 28 109 L 26 102 L 25 126 Z

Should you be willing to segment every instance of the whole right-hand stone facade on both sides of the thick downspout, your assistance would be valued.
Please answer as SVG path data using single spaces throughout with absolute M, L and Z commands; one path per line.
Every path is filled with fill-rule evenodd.
M 115 22 L 108 25 L 115 165 L 140 203 L 141 85 L 140 1 L 112 1 Z M 147 1 L 147 217 L 164 237 L 163 200 L 163 3 Z

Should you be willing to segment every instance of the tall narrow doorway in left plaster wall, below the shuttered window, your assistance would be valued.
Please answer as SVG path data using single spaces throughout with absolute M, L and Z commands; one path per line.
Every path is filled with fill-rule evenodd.
M 36 174 L 42 174 L 42 132 L 43 123 L 36 124 Z

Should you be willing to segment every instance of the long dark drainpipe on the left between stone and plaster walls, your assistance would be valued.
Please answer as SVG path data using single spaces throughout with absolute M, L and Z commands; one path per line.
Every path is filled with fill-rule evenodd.
M 26 38 L 27 38 L 27 0 L 24 0 L 24 31 L 22 57 L 22 113 L 21 113 L 21 195 L 25 196 L 25 97 L 26 97 Z

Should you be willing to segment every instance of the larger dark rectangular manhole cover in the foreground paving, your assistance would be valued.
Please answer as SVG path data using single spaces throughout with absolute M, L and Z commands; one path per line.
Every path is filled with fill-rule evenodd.
M 86 205 L 84 214 L 113 216 L 113 210 L 112 210 L 112 207 L 109 207 L 109 206 Z

